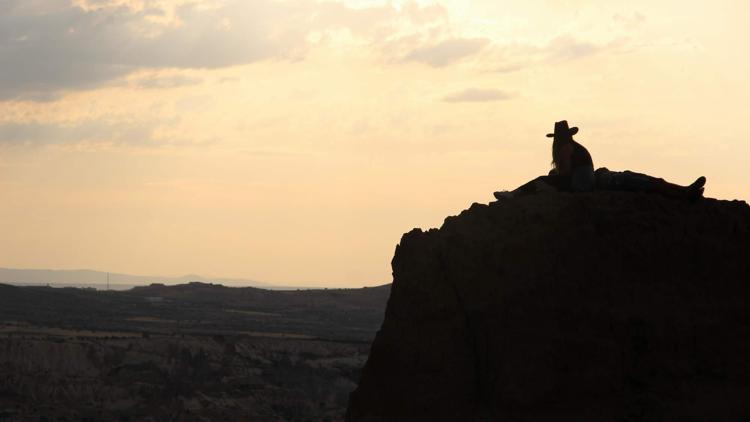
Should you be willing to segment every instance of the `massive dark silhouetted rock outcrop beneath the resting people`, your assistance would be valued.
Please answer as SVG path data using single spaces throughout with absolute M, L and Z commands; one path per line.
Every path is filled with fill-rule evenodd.
M 403 236 L 348 421 L 750 420 L 750 207 L 548 193 Z

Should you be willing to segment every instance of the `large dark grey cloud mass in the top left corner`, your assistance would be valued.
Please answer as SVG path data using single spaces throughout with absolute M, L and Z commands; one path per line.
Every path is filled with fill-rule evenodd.
M 247 28 L 231 31 L 221 29 L 224 17 L 218 12 L 190 6 L 181 9 L 182 25 L 161 27 L 146 19 L 158 13 L 152 9 L 87 12 L 70 6 L 43 13 L 43 7 L 30 11 L 25 2 L 10 0 L 0 15 L 0 99 L 44 99 L 60 90 L 99 86 L 138 68 L 247 63 L 288 54 L 296 41 L 269 35 L 262 13 L 243 16 L 244 8 L 235 13 Z

